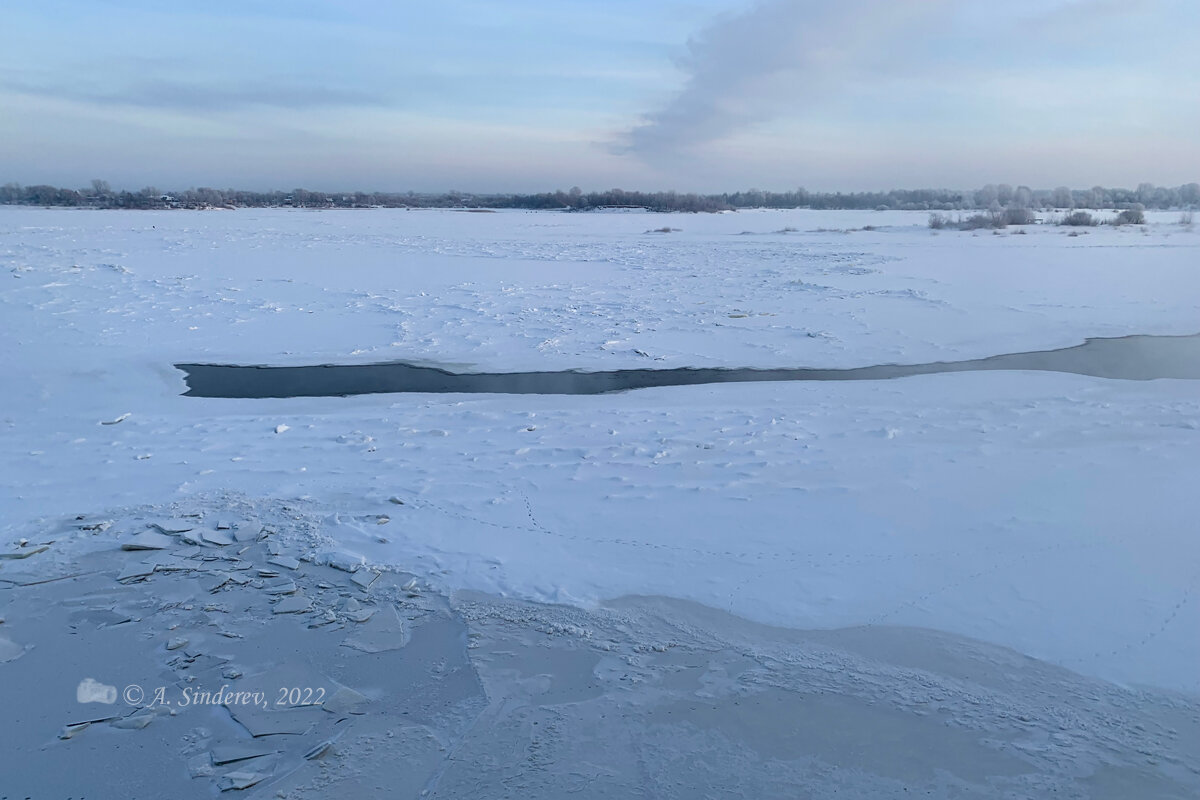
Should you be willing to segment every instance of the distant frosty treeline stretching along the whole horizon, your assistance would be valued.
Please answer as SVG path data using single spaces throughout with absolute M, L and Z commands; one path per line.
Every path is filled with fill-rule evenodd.
M 1141 184 L 1135 190 L 1054 190 L 984 186 L 973 192 L 952 190 L 892 190 L 889 192 L 764 192 L 746 190 L 722 194 L 680 192 L 583 192 L 578 187 L 540 194 L 472 194 L 445 192 L 248 192 L 244 190 L 190 188 L 160 192 L 146 187 L 137 192 L 113 191 L 107 181 L 94 180 L 79 190 L 55 186 L 0 186 L 0 204 L 54 205 L 96 209 L 202 209 L 202 207 L 302 207 L 302 209 L 560 209 L 589 211 L 610 207 L 640 207 L 652 211 L 728 211 L 732 209 L 875 209 L 899 211 L 960 211 L 971 209 L 1194 209 L 1200 206 L 1200 184 L 1175 188 Z

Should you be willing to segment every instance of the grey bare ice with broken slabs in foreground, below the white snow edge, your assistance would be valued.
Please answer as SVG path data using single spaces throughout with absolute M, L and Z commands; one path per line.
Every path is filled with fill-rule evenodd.
M 62 674 L 85 703 L 73 684 L 70 699 L 5 698 L 28 721 L 0 729 L 10 790 L 86 790 L 97 759 L 134 794 L 178 798 L 490 796 L 512 781 L 539 796 L 1200 790 L 1195 697 L 978 640 L 774 628 L 666 597 L 584 610 L 414 591 L 420 576 L 358 554 L 306 557 L 337 518 L 310 503 L 197 497 L 103 516 L 103 530 L 91 515 L 43 524 L 61 579 L 0 572 L 4 668 Z M 232 539 L 206 537 L 218 530 Z M 280 558 L 296 561 L 287 576 Z M 40 746 L 55 735 L 62 747 Z M 85 744 L 113 735 L 138 745 Z

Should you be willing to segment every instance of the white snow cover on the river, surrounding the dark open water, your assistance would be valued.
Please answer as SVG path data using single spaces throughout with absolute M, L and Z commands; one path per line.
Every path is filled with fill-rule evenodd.
M 1195 333 L 1200 234 L 1151 216 L 973 235 L 902 212 L 4 207 L 0 536 L 304 497 L 444 590 L 922 626 L 1200 692 L 1192 381 L 238 401 L 180 397 L 172 367 L 850 367 Z

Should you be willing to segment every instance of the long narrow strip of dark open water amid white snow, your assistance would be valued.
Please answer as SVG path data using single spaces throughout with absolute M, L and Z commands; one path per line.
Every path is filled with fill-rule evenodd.
M 187 397 L 342 397 L 382 392 L 602 395 L 653 386 L 763 380 L 888 380 L 935 372 L 1037 369 L 1121 380 L 1200 379 L 1200 333 L 1087 339 L 1061 350 L 1010 353 L 971 361 L 880 365 L 851 369 L 691 368 L 611 372 L 449 372 L 402 361 L 312 367 L 176 363 Z

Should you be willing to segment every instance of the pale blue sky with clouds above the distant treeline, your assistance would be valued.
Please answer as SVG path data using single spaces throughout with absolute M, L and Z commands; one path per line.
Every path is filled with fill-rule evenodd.
M 7 0 L 0 182 L 1200 180 L 1195 0 Z

